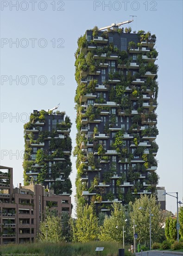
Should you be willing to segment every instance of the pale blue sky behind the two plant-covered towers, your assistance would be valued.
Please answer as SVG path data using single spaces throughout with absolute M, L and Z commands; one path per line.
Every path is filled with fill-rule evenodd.
M 132 30 L 143 29 L 157 36 L 159 186 L 165 186 L 167 192 L 178 191 L 182 201 L 183 1 L 35 0 L 34 8 L 29 0 L 0 2 L 0 73 L 3 80 L 0 85 L 0 164 L 14 168 L 14 186 L 23 183 L 23 125 L 33 109 L 46 110 L 60 103 L 59 109 L 65 110 L 72 120 L 71 137 L 73 148 L 75 146 L 74 53 L 78 37 L 95 25 L 104 27 L 116 21 L 130 20 L 130 15 L 136 15 L 134 22 L 130 23 Z M 16 2 L 17 6 L 13 7 Z M 18 45 L 12 44 L 16 40 Z M 16 76 L 18 84 L 11 81 Z M 34 83 L 32 76 L 37 76 Z M 57 85 L 59 81 L 63 84 Z M 18 155 L 12 155 L 15 153 Z M 75 160 L 72 157 L 73 196 Z M 175 213 L 176 199 L 167 195 L 166 201 L 166 208 Z

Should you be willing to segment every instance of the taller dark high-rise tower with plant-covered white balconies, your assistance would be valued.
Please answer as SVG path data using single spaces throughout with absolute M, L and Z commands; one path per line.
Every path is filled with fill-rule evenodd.
M 76 197 L 108 212 L 155 194 L 158 52 L 150 32 L 87 30 L 76 51 Z

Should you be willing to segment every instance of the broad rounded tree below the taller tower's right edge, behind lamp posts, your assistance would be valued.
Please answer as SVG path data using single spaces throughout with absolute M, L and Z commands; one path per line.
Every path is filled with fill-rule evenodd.
M 139 209 L 141 208 L 141 209 Z M 133 223 L 137 225 L 135 227 L 135 233 L 138 233 L 138 242 L 149 244 L 150 241 L 150 212 L 151 212 L 151 239 L 153 242 L 158 242 L 159 231 L 161 229 L 160 221 L 160 205 L 157 203 L 155 196 L 141 195 L 139 199 L 136 198 L 135 202 L 129 203 L 129 212 L 131 228 L 129 233 L 133 237 Z M 134 220 L 134 222 L 133 222 Z

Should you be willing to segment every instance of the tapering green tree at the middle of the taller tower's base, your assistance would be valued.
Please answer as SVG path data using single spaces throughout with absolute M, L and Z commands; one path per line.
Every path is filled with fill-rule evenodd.
M 125 209 L 117 202 L 114 202 L 111 216 L 106 216 L 101 226 L 99 239 L 101 241 L 123 241 L 123 226 L 125 227 Z

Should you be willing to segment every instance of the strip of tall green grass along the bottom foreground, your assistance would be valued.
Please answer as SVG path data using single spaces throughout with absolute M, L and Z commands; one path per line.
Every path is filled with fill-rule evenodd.
M 96 247 L 104 247 L 101 256 L 118 256 L 120 243 L 88 242 L 88 243 L 27 243 L 19 245 L 4 245 L 0 248 L 0 255 L 35 255 L 35 256 L 96 256 Z M 98 252 L 100 256 L 100 252 Z M 125 256 L 132 255 L 125 249 Z

